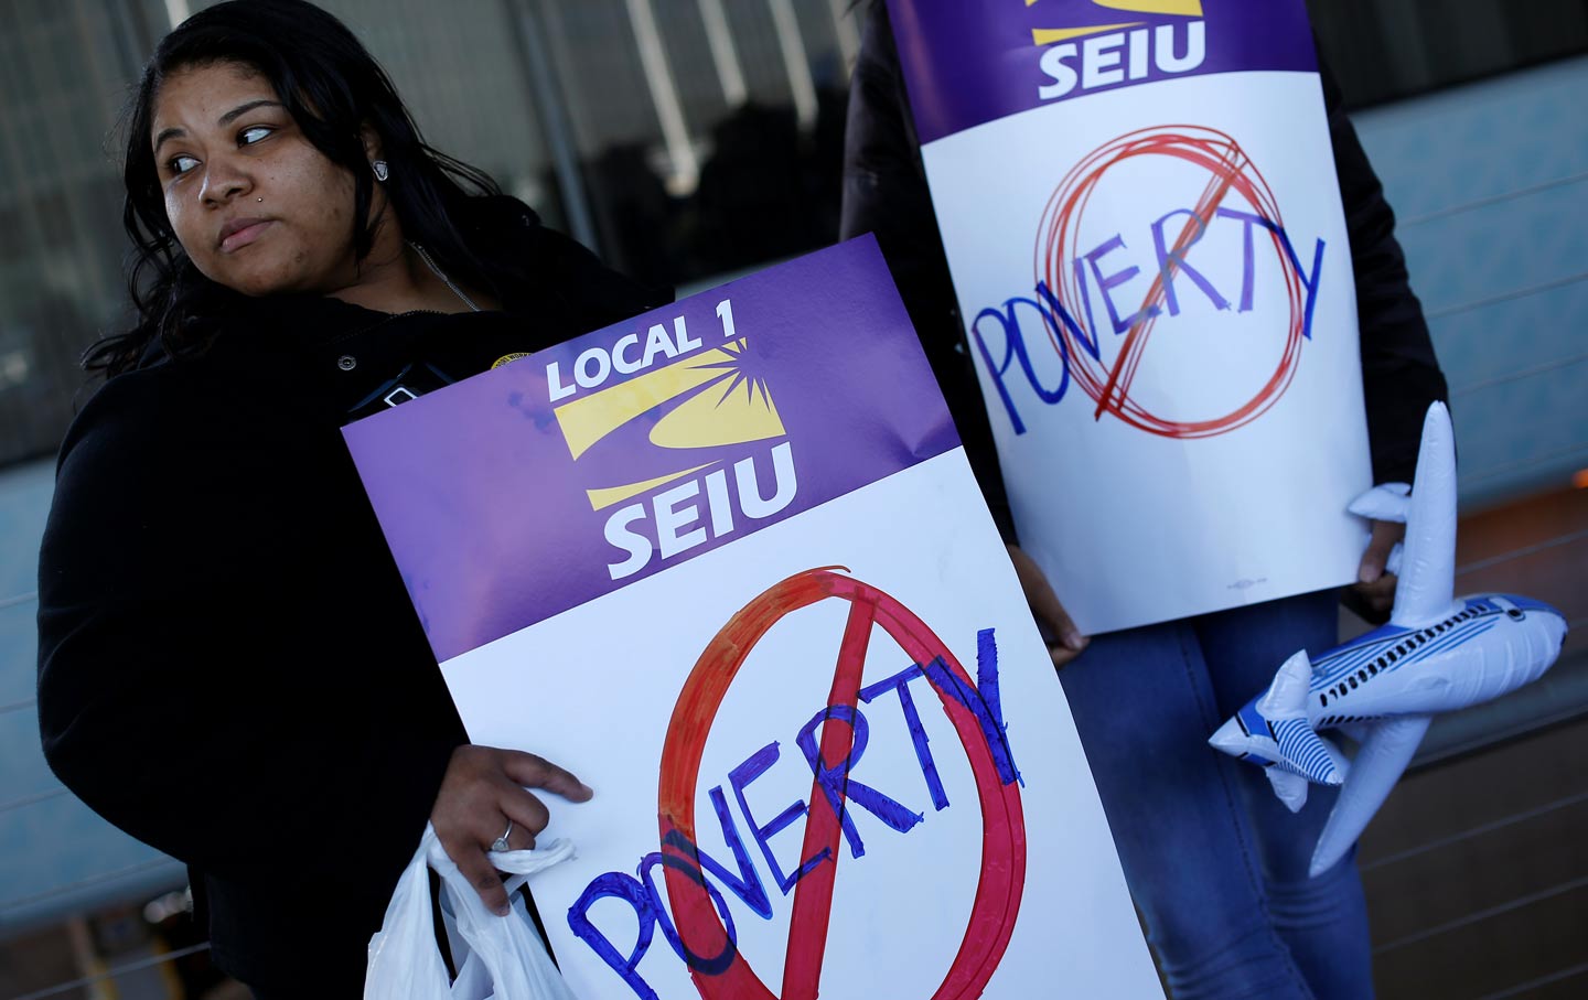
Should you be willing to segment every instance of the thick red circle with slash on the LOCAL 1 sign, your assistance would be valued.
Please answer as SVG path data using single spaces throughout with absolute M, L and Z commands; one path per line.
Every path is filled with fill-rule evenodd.
M 672 860 L 664 865 L 667 897 L 672 902 L 673 925 L 689 954 L 703 956 L 713 970 L 691 963 L 689 975 L 705 1000 L 777 1000 L 756 976 L 718 916 L 705 887 L 699 860 L 688 857 L 673 843 L 678 835 L 696 843 L 696 786 L 700 759 L 711 722 L 727 695 L 734 676 L 750 651 L 783 616 L 821 600 L 850 602 L 848 624 L 834 671 L 829 706 L 854 708 L 872 625 L 881 625 L 916 663 L 942 659 L 950 676 L 966 690 L 975 684 L 948 646 L 921 619 L 888 594 L 832 570 L 807 570 L 765 590 L 740 610 L 716 633 L 696 662 L 667 727 L 662 748 L 662 776 L 657 789 L 657 819 L 662 852 Z M 988 979 L 1008 948 L 1019 913 L 1026 879 L 1026 825 L 1019 802 L 1019 783 L 1004 784 L 997 763 L 975 714 L 940 690 L 934 690 L 950 722 L 959 733 L 970 770 L 975 775 L 981 805 L 981 876 L 966 935 L 954 962 L 932 1000 L 969 1000 L 980 997 Z M 823 725 L 821 759 L 842 760 L 848 756 L 854 730 L 840 719 Z M 805 844 L 800 857 L 813 857 L 827 848 L 827 860 L 818 863 L 794 889 L 794 913 L 789 921 L 788 952 L 783 963 L 781 1000 L 811 1000 L 821 981 L 821 963 L 827 948 L 827 924 L 832 916 L 832 889 L 837 873 L 840 819 L 819 786 L 811 789 L 810 813 L 805 821 Z

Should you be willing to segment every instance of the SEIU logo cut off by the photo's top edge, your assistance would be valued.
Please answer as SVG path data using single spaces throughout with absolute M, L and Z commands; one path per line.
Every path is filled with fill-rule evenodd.
M 1026 6 L 1039 0 L 1026 0 Z M 1058 100 L 1077 87 L 1091 90 L 1147 79 L 1158 73 L 1189 73 L 1207 59 L 1202 0 L 1091 0 L 1096 6 L 1137 14 L 1186 17 L 1148 27 L 1145 21 L 1048 27 L 1031 30 L 1039 46 L 1048 46 L 1039 63 L 1051 81 L 1037 87 L 1042 100 Z M 1072 41 L 1077 40 L 1077 41 Z

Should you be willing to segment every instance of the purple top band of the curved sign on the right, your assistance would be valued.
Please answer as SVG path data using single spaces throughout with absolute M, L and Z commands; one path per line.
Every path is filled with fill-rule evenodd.
M 1316 71 L 1302 0 L 888 0 L 921 143 L 1177 76 Z

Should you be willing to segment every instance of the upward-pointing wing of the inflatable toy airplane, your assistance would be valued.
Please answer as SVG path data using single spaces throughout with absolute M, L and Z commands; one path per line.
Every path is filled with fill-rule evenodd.
M 1455 610 L 1456 435 L 1443 403 L 1429 406 L 1423 417 L 1404 546 L 1390 622 L 1421 629 Z

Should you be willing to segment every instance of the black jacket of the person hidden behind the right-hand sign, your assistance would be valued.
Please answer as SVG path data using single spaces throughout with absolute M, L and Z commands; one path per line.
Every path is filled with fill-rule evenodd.
M 1321 59 L 1320 67 L 1356 278 L 1374 479 L 1410 483 L 1423 416 L 1428 405 L 1445 400 L 1448 390 L 1434 359 L 1423 306 L 1407 284 L 1405 256 L 1394 238 L 1394 213 L 1345 116 L 1339 84 Z M 843 237 L 877 235 L 921 346 L 948 397 L 948 408 L 994 519 L 1005 540 L 1013 541 L 992 430 L 964 349 L 954 286 L 926 186 L 888 8 L 881 0 L 872 2 L 865 19 L 850 87 L 846 129 Z

